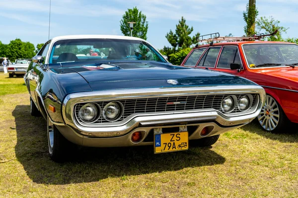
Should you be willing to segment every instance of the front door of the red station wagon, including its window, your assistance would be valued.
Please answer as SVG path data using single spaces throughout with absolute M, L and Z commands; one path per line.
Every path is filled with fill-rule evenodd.
M 240 69 L 239 71 L 237 69 L 231 70 L 230 69 L 231 63 L 240 64 L 242 69 Z M 239 49 L 237 46 L 223 47 L 215 70 L 230 73 L 236 76 L 241 76 L 244 78 L 246 77 L 246 70 L 243 69 L 243 65 L 239 55 Z

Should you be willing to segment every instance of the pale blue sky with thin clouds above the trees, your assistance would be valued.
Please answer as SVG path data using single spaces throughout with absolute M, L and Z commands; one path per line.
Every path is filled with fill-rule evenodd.
M 248 0 L 52 0 L 50 38 L 73 34 L 122 35 L 120 20 L 137 6 L 149 22 L 148 41 L 170 46 L 165 35 L 181 16 L 201 35 L 244 34 L 242 12 Z M 35 46 L 48 40 L 50 0 L 0 0 L 0 41 L 20 38 Z M 289 28 L 283 37 L 298 37 L 298 0 L 256 0 L 260 16 L 273 16 Z

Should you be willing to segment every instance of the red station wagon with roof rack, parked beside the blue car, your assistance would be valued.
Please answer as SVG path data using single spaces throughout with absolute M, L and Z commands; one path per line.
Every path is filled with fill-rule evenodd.
M 212 39 L 203 39 L 204 35 L 199 42 L 210 44 L 196 46 L 181 65 L 227 72 L 261 85 L 267 96 L 258 121 L 266 131 L 281 132 L 289 120 L 298 123 L 298 45 L 255 41 L 268 35 L 215 34 L 214 38 L 210 35 Z

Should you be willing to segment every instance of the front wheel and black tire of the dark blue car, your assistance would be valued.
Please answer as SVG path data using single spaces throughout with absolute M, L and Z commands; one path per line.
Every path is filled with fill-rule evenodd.
M 55 162 L 64 162 L 71 148 L 71 143 L 60 133 L 57 127 L 47 118 L 49 156 Z

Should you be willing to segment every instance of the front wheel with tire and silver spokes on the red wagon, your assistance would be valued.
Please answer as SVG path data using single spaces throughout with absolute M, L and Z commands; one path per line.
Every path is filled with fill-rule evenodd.
M 267 95 L 265 105 L 258 115 L 258 121 L 264 130 L 278 133 L 286 127 L 287 116 L 281 105 L 272 96 Z

